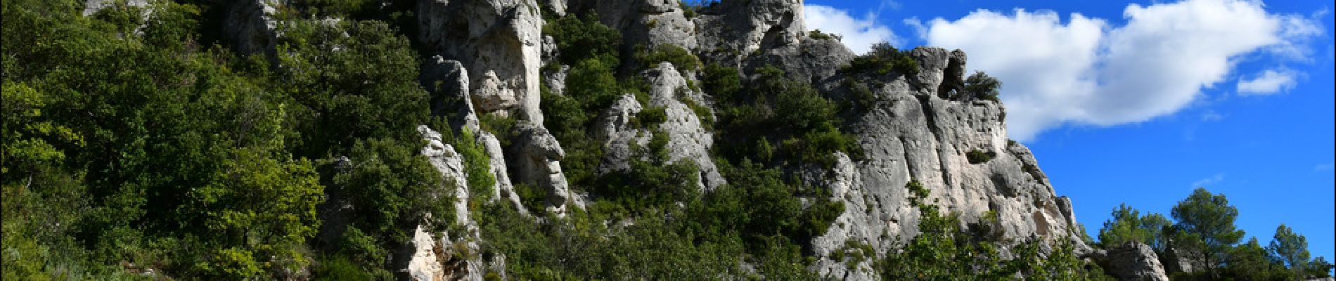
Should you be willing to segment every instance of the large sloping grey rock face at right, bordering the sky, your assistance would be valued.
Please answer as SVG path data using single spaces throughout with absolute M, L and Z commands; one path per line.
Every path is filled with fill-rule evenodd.
M 963 68 L 965 53 L 918 48 L 910 55 L 922 67 L 919 75 L 874 85 L 876 105 L 852 120 L 866 157 L 842 161 L 834 177 L 812 182 L 831 186 L 846 204 L 836 226 L 814 240 L 816 254 L 836 250 L 847 240 L 868 242 L 882 253 L 912 238 L 918 210 L 908 205 L 903 188 L 910 180 L 922 182 L 943 210 L 958 212 L 962 222 L 991 212 L 1003 237 L 1070 240 L 1086 249 L 1074 233 L 1070 201 L 1054 196 L 1042 173 L 1026 172 L 1034 157 L 1007 141 L 1002 105 L 939 97 L 943 84 L 962 79 L 949 69 Z M 995 157 L 973 164 L 966 157 L 971 150 Z M 826 258 L 814 268 L 832 277 L 844 274 L 844 265 Z

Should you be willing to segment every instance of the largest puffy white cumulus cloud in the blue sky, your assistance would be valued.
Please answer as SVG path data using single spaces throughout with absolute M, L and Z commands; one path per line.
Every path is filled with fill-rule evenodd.
M 934 19 L 923 37 L 959 48 L 969 68 L 1003 83 L 1011 136 L 1030 140 L 1065 123 L 1117 125 L 1188 107 L 1228 79 L 1242 55 L 1301 48 L 1321 35 L 1301 16 L 1268 13 L 1261 3 L 1188 0 L 1124 11 L 1126 24 L 1017 9 Z

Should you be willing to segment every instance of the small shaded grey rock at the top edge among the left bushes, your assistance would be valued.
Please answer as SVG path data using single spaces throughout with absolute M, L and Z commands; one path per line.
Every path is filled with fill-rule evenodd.
M 232 51 L 242 55 L 263 53 L 277 63 L 274 44 L 278 41 L 277 0 L 244 0 L 227 7 L 223 35 L 232 43 Z

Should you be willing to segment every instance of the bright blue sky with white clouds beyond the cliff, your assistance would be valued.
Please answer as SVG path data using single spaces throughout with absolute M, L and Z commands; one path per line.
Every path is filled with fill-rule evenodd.
M 1331 1 L 806 5 L 808 29 L 855 52 L 959 48 L 999 77 L 1010 136 L 1092 236 L 1120 202 L 1168 216 L 1205 186 L 1263 244 L 1285 224 L 1315 257 L 1336 257 Z

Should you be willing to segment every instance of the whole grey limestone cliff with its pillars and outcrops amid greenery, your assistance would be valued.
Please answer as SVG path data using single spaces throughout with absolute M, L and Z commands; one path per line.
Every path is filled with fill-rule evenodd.
M 477 129 L 474 112 L 520 120 L 510 148 L 501 148 L 492 135 L 484 133 L 480 140 L 493 157 L 496 190 L 510 194 L 494 198 L 506 198 L 521 210 L 514 192 L 506 192 L 510 182 L 545 186 L 546 204 L 554 213 L 582 206 L 581 196 L 561 170 L 565 152 L 542 127 L 538 85 L 550 84 L 560 95 L 568 68 L 557 65 L 560 71 L 548 77 L 538 75 L 538 68 L 554 63 L 556 56 L 550 37 L 541 35 L 540 9 L 556 15 L 595 11 L 601 23 L 624 35 L 624 49 L 673 44 L 744 73 L 775 65 L 828 97 L 852 99 L 839 87 L 852 77 L 838 69 L 855 55 L 836 40 L 808 36 L 800 0 L 723 1 L 700 9 L 695 17 L 687 17 L 676 1 L 664 0 L 422 0 L 420 40 L 438 52 L 441 61 L 457 61 L 428 65 L 424 73 L 445 65 L 446 71 L 432 72 L 450 81 L 444 84 L 449 89 L 440 91 L 465 100 L 464 108 L 438 112 L 469 116 L 456 125 L 472 129 Z M 963 224 L 987 218 L 995 221 L 1003 240 L 1067 240 L 1086 250 L 1075 230 L 1071 201 L 1057 194 L 1025 145 L 1007 139 L 1003 105 L 946 95 L 963 80 L 966 55 L 941 48 L 916 48 L 908 55 L 918 63 L 918 73 L 882 77 L 872 88 L 875 103 L 864 112 L 850 113 L 846 125 L 864 154 L 851 158 L 839 153 L 831 168 L 795 170 L 808 184 L 828 186 L 832 198 L 846 206 L 830 230 L 811 241 L 819 257 L 811 270 L 832 278 L 875 278 L 870 262 L 846 265 L 827 256 L 847 241 L 872 245 L 880 253 L 914 237 L 919 214 L 903 188 L 911 180 L 927 186 L 931 198 L 958 213 Z M 653 133 L 633 128 L 629 120 L 645 107 L 664 107 L 668 121 L 656 132 L 669 136 L 672 158 L 695 161 L 701 188 L 725 184 L 709 154 L 715 133 L 681 101 L 708 107 L 711 93 L 687 87 L 697 83 L 696 75 L 679 72 L 671 64 L 641 75 L 649 81 L 648 104 L 625 95 L 603 112 L 593 128 L 607 150 L 599 169 L 625 169 L 635 157 L 629 146 L 643 145 Z M 979 161 L 971 153 L 989 157 Z

